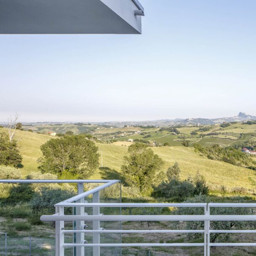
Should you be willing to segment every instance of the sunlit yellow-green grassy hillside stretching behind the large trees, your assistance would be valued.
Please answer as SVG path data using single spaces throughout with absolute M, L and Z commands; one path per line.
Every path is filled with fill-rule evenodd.
M 6 131 L 5 129 L 0 129 Z M 39 147 L 52 137 L 26 131 L 19 131 L 16 139 L 23 157 L 24 167 L 21 169 L 25 175 L 29 172 L 37 171 L 37 158 L 40 157 Z M 123 146 L 122 146 L 123 145 Z M 125 146 L 126 145 L 126 146 Z M 120 178 L 120 167 L 123 164 L 123 156 L 127 153 L 127 142 L 117 142 L 115 144 L 97 144 L 99 153 L 103 156 L 103 168 L 99 167 L 91 178 L 118 179 Z M 256 172 L 242 167 L 230 165 L 225 162 L 210 160 L 201 157 L 194 152 L 192 147 L 153 147 L 156 154 L 165 160 L 165 170 L 177 161 L 181 168 L 181 177 L 196 175 L 199 171 L 203 174 L 209 184 L 226 185 L 227 187 L 243 186 L 249 189 L 255 188 Z M 101 157 L 99 161 L 101 165 Z

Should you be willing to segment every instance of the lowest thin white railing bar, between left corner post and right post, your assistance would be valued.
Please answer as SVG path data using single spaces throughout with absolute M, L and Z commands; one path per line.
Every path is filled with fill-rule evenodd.
M 64 243 L 64 247 L 150 247 L 150 246 L 204 246 L 204 243 Z

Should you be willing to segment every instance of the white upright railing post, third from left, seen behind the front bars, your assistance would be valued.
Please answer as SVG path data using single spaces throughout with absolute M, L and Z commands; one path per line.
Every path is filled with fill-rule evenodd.
M 99 191 L 93 193 L 92 196 L 92 202 L 93 203 L 99 203 Z M 93 215 L 99 215 L 99 207 L 93 207 L 92 208 L 92 214 Z M 93 230 L 99 230 L 99 221 L 94 220 L 92 222 L 92 229 Z M 99 233 L 93 233 L 93 243 L 99 243 Z M 94 246 L 93 247 L 93 256 L 99 256 L 100 254 L 100 247 L 99 246 Z

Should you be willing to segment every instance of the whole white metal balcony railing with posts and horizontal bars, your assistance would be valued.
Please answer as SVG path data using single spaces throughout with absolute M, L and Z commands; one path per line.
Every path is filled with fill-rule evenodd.
M 93 256 L 100 255 L 103 247 L 154 247 L 154 246 L 198 246 L 204 248 L 204 255 L 210 256 L 212 246 L 256 246 L 256 243 L 211 243 L 212 233 L 256 233 L 256 230 L 211 230 L 211 221 L 256 221 L 256 215 L 211 215 L 210 210 L 214 207 L 250 207 L 256 208 L 256 204 L 242 203 L 100 203 L 99 192 L 104 188 L 119 183 L 119 180 L 0 180 L 5 183 L 77 183 L 78 195 L 55 204 L 55 214 L 41 216 L 42 221 L 55 221 L 56 225 L 56 256 L 64 256 L 65 248 L 73 248 L 74 256 L 84 256 L 84 249 L 93 248 Z M 97 188 L 84 192 L 84 183 L 104 183 Z M 85 201 L 85 197 L 92 196 L 92 203 Z M 65 207 L 73 207 L 76 214 L 65 215 Z M 86 209 L 92 209 L 92 215 L 85 213 Z M 196 207 L 203 209 L 202 215 L 103 215 L 100 209 L 104 207 Z M 73 221 L 76 228 L 65 230 L 65 221 Z M 86 222 L 92 222 L 92 229 L 86 229 Z M 100 222 L 105 221 L 203 221 L 202 230 L 104 230 Z M 204 243 L 101 243 L 100 234 L 124 234 L 124 233 L 201 233 L 204 234 Z M 75 234 L 76 241 L 65 243 L 65 234 Z M 85 235 L 92 235 L 92 243 L 86 243 Z

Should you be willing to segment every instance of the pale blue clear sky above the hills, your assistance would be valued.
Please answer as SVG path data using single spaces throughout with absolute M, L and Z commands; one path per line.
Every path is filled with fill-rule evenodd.
M 140 0 L 141 35 L 0 35 L 0 121 L 256 115 L 255 0 Z

